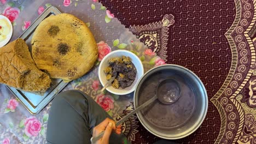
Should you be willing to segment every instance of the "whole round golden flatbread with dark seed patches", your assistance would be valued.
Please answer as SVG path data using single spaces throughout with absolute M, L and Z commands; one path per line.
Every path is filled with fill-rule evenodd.
M 90 29 L 71 14 L 47 17 L 36 28 L 31 44 L 37 67 L 65 82 L 86 74 L 98 57 Z

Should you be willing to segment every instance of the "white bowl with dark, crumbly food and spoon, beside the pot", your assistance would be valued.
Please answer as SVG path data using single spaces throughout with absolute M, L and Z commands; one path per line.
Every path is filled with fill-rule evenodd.
M 143 74 L 144 69 L 141 60 L 127 50 L 116 50 L 108 53 L 98 68 L 98 77 L 102 86 L 107 84 L 110 77 L 115 77 L 106 89 L 108 92 L 118 95 L 135 91 L 136 84 Z

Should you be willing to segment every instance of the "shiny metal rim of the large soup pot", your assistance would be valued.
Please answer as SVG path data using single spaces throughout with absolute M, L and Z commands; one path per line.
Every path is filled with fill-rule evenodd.
M 160 138 L 162 138 L 162 139 L 167 139 L 167 140 L 182 139 L 182 138 L 184 138 L 184 137 L 186 137 L 186 136 L 189 136 L 190 134 L 194 133 L 194 132 L 201 126 L 202 122 L 204 121 L 204 119 L 205 119 L 205 117 L 206 117 L 207 110 L 208 110 L 208 95 L 207 95 L 206 88 L 205 88 L 205 86 L 203 85 L 203 83 L 202 83 L 202 81 L 200 80 L 200 78 L 199 78 L 195 73 L 193 73 L 193 71 L 191 71 L 191 70 L 189 70 L 189 69 L 187 69 L 187 68 L 185 68 L 185 67 L 182 67 L 181 65 L 177 65 L 177 64 L 164 64 L 164 65 L 159 65 L 158 67 L 155 67 L 155 68 L 152 68 L 152 69 L 148 70 L 147 73 L 145 73 L 145 74 L 141 77 L 141 79 L 139 79 L 139 81 L 137 82 L 136 89 L 135 89 L 135 92 L 134 92 L 134 94 L 133 94 L 133 103 L 134 103 L 134 107 L 135 107 L 135 109 L 136 109 L 137 106 L 136 106 L 136 103 L 135 103 L 136 101 L 135 101 L 135 100 L 136 100 L 136 98 L 138 97 L 138 96 L 136 97 L 136 93 L 137 93 L 137 91 L 139 90 L 139 89 L 138 89 L 138 85 L 141 83 L 141 81 L 142 81 L 143 79 L 146 79 L 145 77 L 148 76 L 149 73 L 152 73 L 152 71 L 154 71 L 154 70 L 156 70 L 156 69 L 164 68 L 164 67 L 176 67 L 176 68 L 183 69 L 183 70 L 187 71 L 187 73 L 190 73 L 191 75 L 193 75 L 194 78 L 196 79 L 196 81 L 199 82 L 199 84 L 200 84 L 200 86 L 201 86 L 201 88 L 202 88 L 202 91 L 203 91 L 203 93 L 204 93 L 204 95 L 205 95 L 205 97 L 203 97 L 203 98 L 205 99 L 205 104 L 204 104 L 205 106 L 202 105 L 202 107 L 205 107 L 205 109 L 203 109 L 203 110 L 201 111 L 201 114 L 200 114 L 201 117 L 200 117 L 199 119 L 197 119 L 196 126 L 194 127 L 193 130 L 190 130 L 190 131 L 188 131 L 188 133 L 185 133 L 185 134 L 183 134 L 183 135 L 173 136 L 173 137 L 167 137 L 167 136 L 159 135 L 158 133 L 154 133 L 154 131 L 153 131 L 152 129 L 150 129 L 150 128 L 147 127 L 147 123 L 143 121 L 142 116 L 139 115 L 139 112 L 137 112 L 136 115 L 137 115 L 137 117 L 138 117 L 138 119 L 139 119 L 139 122 L 141 122 L 141 124 L 143 125 L 143 127 L 146 128 L 151 134 L 153 134 L 153 135 L 155 135 L 155 136 L 158 136 L 158 137 L 160 137 Z M 138 101 L 137 101 L 137 103 L 138 103 Z

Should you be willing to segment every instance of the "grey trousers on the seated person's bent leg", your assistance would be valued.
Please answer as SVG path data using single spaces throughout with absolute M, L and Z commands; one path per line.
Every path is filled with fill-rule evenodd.
M 47 143 L 91 143 L 93 128 L 111 118 L 100 105 L 81 91 L 66 91 L 53 100 L 47 131 Z M 111 118 L 112 119 L 112 118 Z M 109 143 L 123 143 L 125 136 L 112 133 Z

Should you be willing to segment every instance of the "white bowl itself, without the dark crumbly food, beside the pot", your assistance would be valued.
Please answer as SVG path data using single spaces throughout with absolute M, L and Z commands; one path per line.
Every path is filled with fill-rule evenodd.
M 131 62 L 135 65 L 136 70 L 137 70 L 137 75 L 135 80 L 132 82 L 132 85 L 130 87 L 126 87 L 126 88 L 114 88 L 111 85 L 109 87 L 107 87 L 107 91 L 113 94 L 118 94 L 118 95 L 124 95 L 124 94 L 129 94 L 133 91 L 135 91 L 135 87 L 136 84 L 138 82 L 138 80 L 142 77 L 142 75 L 144 74 L 144 69 L 143 69 L 143 65 L 141 63 L 141 60 L 132 52 L 127 51 L 127 50 L 116 50 L 116 51 L 112 51 L 110 53 L 108 53 L 107 56 L 105 56 L 101 63 L 100 63 L 100 67 L 98 68 L 98 76 L 101 82 L 102 86 L 105 86 L 106 83 L 108 82 L 106 79 L 106 74 L 104 73 L 104 68 L 108 67 L 108 60 L 110 58 L 113 57 L 121 57 L 121 56 L 126 56 L 126 57 L 130 57 L 131 58 Z

